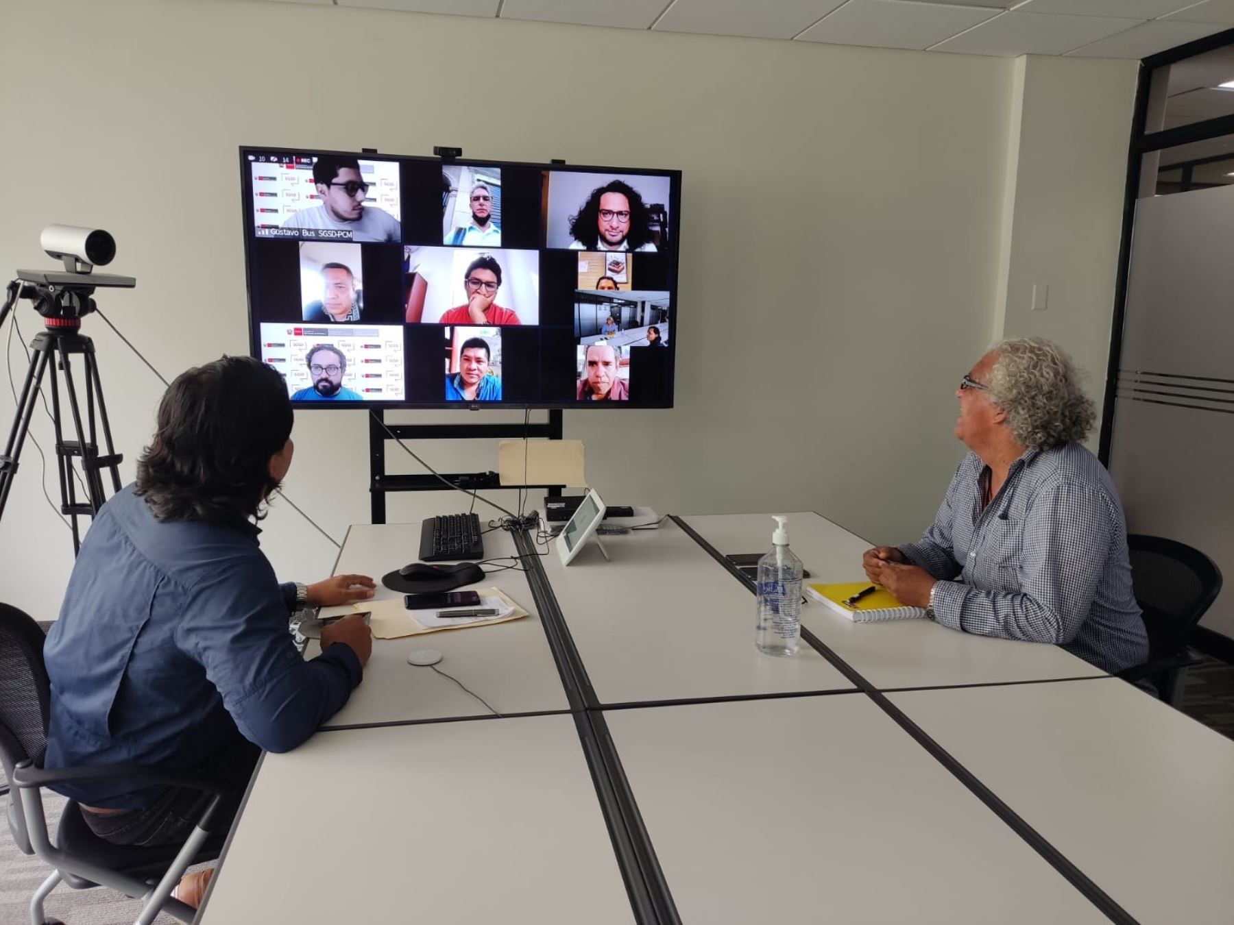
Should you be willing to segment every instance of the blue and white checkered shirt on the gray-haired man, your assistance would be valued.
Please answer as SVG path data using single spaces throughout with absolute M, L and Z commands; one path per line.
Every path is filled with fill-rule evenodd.
M 1077 443 L 1027 450 L 981 508 L 969 453 L 921 543 L 900 546 L 939 581 L 934 618 L 965 633 L 1055 643 L 1111 673 L 1148 660 L 1123 506 Z

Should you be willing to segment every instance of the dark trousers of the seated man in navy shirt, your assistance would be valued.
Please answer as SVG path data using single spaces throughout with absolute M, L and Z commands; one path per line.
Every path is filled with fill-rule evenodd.
M 223 832 L 231 828 L 260 754 L 262 750 L 255 745 L 241 740 L 223 751 L 209 770 L 194 775 L 215 781 L 230 791 L 211 816 L 211 832 Z M 110 841 L 112 845 L 152 847 L 188 839 L 212 798 L 211 793 L 186 787 L 168 787 L 153 803 L 142 809 L 127 809 L 109 815 L 83 809 L 81 815 L 90 831 L 104 841 Z

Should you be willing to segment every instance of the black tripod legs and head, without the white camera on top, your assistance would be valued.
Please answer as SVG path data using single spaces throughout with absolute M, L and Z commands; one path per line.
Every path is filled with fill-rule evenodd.
M 123 459 L 115 451 L 111 442 L 111 427 L 107 422 L 107 407 L 102 400 L 102 385 L 99 381 L 99 364 L 94 354 L 94 342 L 80 333 L 81 318 L 91 311 L 94 300 L 89 298 L 89 292 L 70 292 L 67 287 L 47 292 L 38 286 L 10 287 L 10 296 L 5 305 L 0 306 L 0 326 L 4 324 L 5 316 L 17 302 L 19 294 L 22 297 L 52 296 L 51 298 L 36 298 L 36 307 L 44 316 L 46 331 L 37 334 L 31 343 L 30 369 L 26 371 L 26 380 L 21 387 L 21 396 L 17 400 L 17 411 L 14 417 L 12 428 L 9 432 L 9 442 L 4 453 L 0 454 L 0 517 L 4 517 L 5 503 L 9 501 L 9 492 L 12 490 L 14 477 L 17 475 L 19 458 L 21 448 L 30 433 L 30 421 L 35 413 L 35 406 L 39 400 L 43 387 L 43 379 L 47 376 L 48 391 L 52 396 L 52 424 L 56 429 L 56 456 L 60 479 L 60 513 L 68 514 L 73 530 L 73 553 L 77 555 L 81 546 L 81 535 L 78 529 L 78 517 L 94 517 L 99 513 L 107 500 L 104 493 L 104 470 L 111 471 L 112 493 L 120 491 L 120 461 Z M 65 317 L 65 312 L 48 312 L 44 306 L 48 303 L 60 306 L 80 306 L 75 317 Z M 84 308 L 84 311 L 83 311 Z M 80 355 L 84 370 L 85 384 L 85 416 L 81 414 L 81 406 L 78 400 L 78 385 L 73 377 L 72 359 Z M 60 397 L 60 385 L 63 380 L 64 397 Z M 64 406 L 68 406 L 69 417 L 73 423 L 75 440 L 64 439 Z M 102 437 L 104 453 L 99 453 L 99 437 Z M 80 460 L 80 472 L 74 465 L 74 460 Z M 85 497 L 78 492 L 78 480 L 81 481 Z

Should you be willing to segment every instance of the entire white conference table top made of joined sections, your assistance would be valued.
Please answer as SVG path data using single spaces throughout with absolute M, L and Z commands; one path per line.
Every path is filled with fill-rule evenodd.
M 756 551 L 770 518 L 687 523 L 722 553 Z M 814 514 L 793 516 L 791 538 L 821 581 L 850 578 L 866 546 Z M 513 551 L 508 534 L 485 541 Z M 353 527 L 337 571 L 379 576 L 417 543 L 418 524 Z M 1106 921 L 808 646 L 759 655 L 753 596 L 685 532 L 665 522 L 605 544 L 612 561 L 595 548 L 569 569 L 538 561 L 598 699 L 636 704 L 603 717 L 684 921 Z M 523 575 L 492 583 L 534 613 Z M 875 684 L 928 686 L 888 697 L 1145 925 L 1229 920 L 1234 744 L 1091 667 L 1097 678 L 1032 683 L 1076 677 L 1054 646 L 822 608 L 803 622 Z M 444 651 L 442 667 L 503 713 L 568 709 L 536 618 L 375 641 L 332 723 L 416 724 L 267 755 L 199 921 L 631 920 L 574 718 L 417 723 L 482 709 L 407 666 L 410 648 Z M 750 696 L 769 699 L 637 705 Z M 318 871 L 325 888 L 305 888 Z

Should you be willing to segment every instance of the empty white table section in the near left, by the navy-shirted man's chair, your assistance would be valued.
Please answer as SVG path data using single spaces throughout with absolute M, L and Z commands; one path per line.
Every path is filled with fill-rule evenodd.
M 320 733 L 265 755 L 199 925 L 631 923 L 569 715 Z

